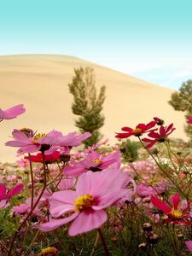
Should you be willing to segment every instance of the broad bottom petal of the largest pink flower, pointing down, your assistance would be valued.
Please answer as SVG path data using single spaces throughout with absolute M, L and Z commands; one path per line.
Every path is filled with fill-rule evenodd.
M 68 235 L 77 236 L 84 232 L 98 229 L 107 219 L 108 215 L 103 210 L 81 212 L 69 227 Z

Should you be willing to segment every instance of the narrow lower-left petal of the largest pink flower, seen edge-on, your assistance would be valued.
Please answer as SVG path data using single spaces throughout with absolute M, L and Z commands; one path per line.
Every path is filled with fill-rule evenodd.
M 70 217 L 55 219 L 55 220 L 51 220 L 50 222 L 40 224 L 39 230 L 43 232 L 49 232 L 49 231 L 58 229 L 61 225 L 67 224 L 70 221 L 72 221 L 74 218 L 77 218 L 78 215 L 79 215 L 79 212 L 75 212 Z

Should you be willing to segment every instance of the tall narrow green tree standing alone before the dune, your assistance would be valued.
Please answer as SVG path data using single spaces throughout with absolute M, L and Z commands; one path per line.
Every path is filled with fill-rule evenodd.
M 84 141 L 84 145 L 90 146 L 99 142 L 102 134 L 99 129 L 104 125 L 102 106 L 105 100 L 106 87 L 102 85 L 99 95 L 96 94 L 94 70 L 90 67 L 74 68 L 73 81 L 68 84 L 69 91 L 73 95 L 72 110 L 79 115 L 75 125 L 81 133 L 90 131 L 92 136 Z

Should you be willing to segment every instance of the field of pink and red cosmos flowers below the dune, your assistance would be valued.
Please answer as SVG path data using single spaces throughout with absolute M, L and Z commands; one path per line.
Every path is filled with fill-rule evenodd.
M 0 109 L 0 121 L 20 114 Z M 0 166 L 0 255 L 190 255 L 191 142 L 171 140 L 160 118 L 81 149 L 89 132 L 15 129 L 5 147 L 18 157 Z

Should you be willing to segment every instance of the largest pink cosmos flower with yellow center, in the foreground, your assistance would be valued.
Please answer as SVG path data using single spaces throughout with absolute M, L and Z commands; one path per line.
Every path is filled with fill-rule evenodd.
M 40 230 L 55 230 L 72 221 L 69 236 L 99 228 L 108 218 L 103 209 L 129 194 L 125 189 L 129 181 L 127 174 L 120 170 L 83 173 L 79 176 L 76 191 L 57 191 L 50 197 L 50 215 L 58 219 L 41 224 Z M 71 216 L 60 218 L 70 212 Z

